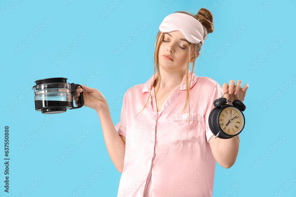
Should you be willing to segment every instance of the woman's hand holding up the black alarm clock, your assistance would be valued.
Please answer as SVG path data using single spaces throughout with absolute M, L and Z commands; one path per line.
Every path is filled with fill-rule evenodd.
M 227 100 L 231 100 L 229 105 L 232 105 L 232 101 L 237 99 L 237 94 L 239 95 L 239 100 L 242 102 L 244 101 L 244 97 L 246 95 L 247 89 L 249 87 L 249 84 L 245 84 L 244 87 L 241 88 L 242 86 L 242 81 L 237 80 L 237 84 L 234 84 L 235 81 L 231 79 L 229 81 L 229 85 L 227 83 L 223 83 L 223 93 L 224 96 Z

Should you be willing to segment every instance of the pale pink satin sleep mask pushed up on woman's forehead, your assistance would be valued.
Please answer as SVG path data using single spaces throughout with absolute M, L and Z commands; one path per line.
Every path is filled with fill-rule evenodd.
M 204 43 L 204 29 L 194 17 L 184 13 L 173 13 L 166 16 L 159 26 L 163 33 L 179 30 L 190 43 Z

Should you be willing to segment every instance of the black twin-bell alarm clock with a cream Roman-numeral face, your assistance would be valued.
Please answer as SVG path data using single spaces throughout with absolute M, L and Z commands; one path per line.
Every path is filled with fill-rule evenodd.
M 246 109 L 246 106 L 239 100 L 238 94 L 237 100 L 229 105 L 231 100 L 224 98 L 224 94 L 214 101 L 215 108 L 209 115 L 210 130 L 215 138 L 229 139 L 236 136 L 239 140 L 237 135 L 244 128 L 245 119 L 242 112 Z

